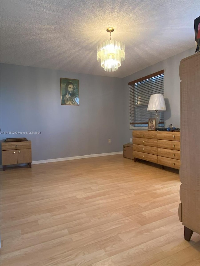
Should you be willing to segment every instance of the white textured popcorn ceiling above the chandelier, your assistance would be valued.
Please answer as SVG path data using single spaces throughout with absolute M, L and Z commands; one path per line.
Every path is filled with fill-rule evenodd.
M 1 62 L 125 77 L 195 47 L 199 15 L 199 0 L 1 1 Z M 97 61 L 107 27 L 125 43 L 115 72 Z

